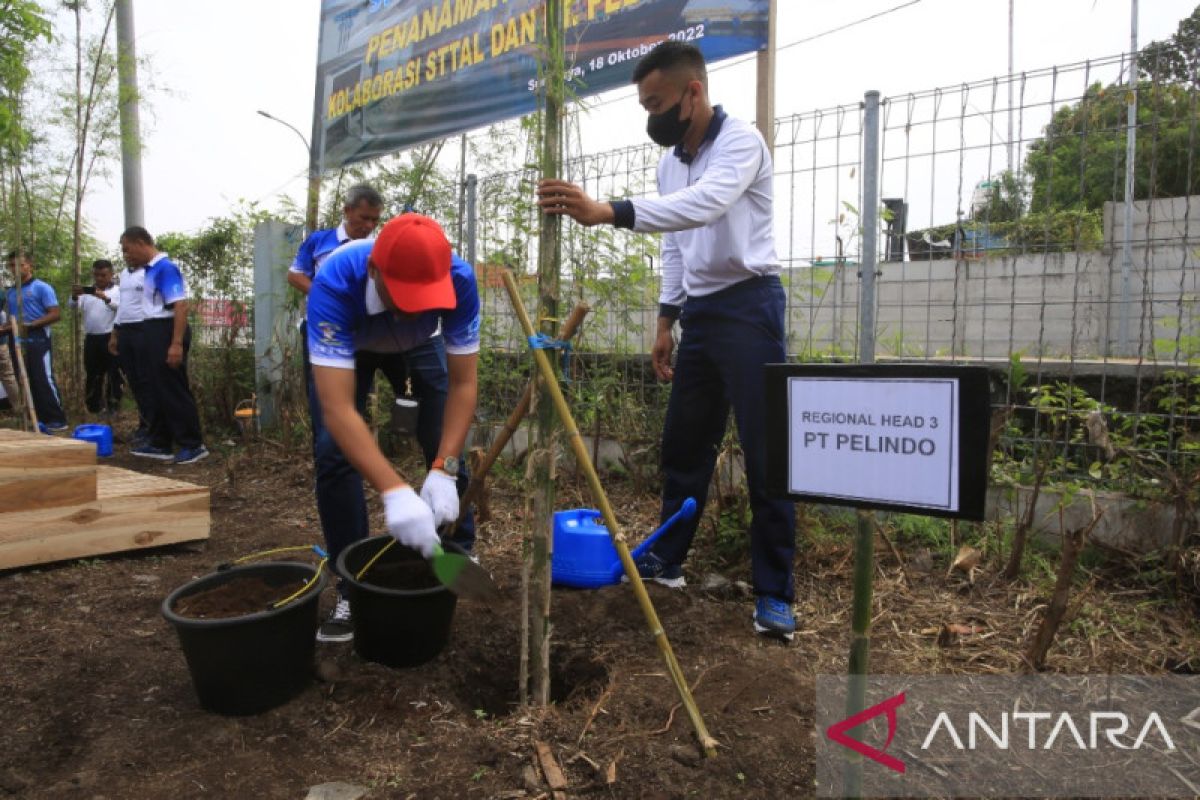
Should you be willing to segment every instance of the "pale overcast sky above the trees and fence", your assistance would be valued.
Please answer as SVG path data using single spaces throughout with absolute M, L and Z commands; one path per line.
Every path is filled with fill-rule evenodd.
M 779 0 L 780 47 L 904 6 L 906 0 Z M 318 0 L 134 0 L 137 47 L 167 94 L 143 115 L 146 227 L 194 231 L 238 199 L 272 207 L 281 194 L 302 206 L 313 109 Z M 1008 0 L 919 0 L 779 54 L 776 115 L 1004 74 Z M 1139 46 L 1175 32 L 1196 0 L 1141 0 Z M 1036 70 L 1129 48 L 1129 0 L 1015 0 L 1015 67 Z M 714 102 L 754 118 L 754 64 L 718 71 Z M 623 137 L 644 122 L 630 90 L 595 108 Z M 606 120 L 607 122 L 607 120 Z M 120 169 L 96 181 L 85 215 L 115 245 L 124 227 Z

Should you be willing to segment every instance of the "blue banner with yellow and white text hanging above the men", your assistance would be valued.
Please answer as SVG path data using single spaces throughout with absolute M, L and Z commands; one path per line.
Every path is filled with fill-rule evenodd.
M 769 0 L 564 0 L 569 92 L 628 85 L 664 40 L 712 64 L 762 49 Z M 323 0 L 320 172 L 535 110 L 545 0 Z

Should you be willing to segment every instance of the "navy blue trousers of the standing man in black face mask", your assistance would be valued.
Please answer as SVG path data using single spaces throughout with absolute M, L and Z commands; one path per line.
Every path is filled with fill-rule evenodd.
M 766 377 L 782 363 L 786 295 L 778 277 L 750 278 L 704 297 L 689 297 L 662 428 L 662 519 L 691 497 L 700 511 L 716 465 L 730 409 L 738 428 L 750 489 L 750 558 L 757 595 L 793 599 L 796 507 L 767 494 Z M 782 435 L 782 432 L 775 432 Z M 682 564 L 696 535 L 697 513 L 654 545 L 667 564 Z

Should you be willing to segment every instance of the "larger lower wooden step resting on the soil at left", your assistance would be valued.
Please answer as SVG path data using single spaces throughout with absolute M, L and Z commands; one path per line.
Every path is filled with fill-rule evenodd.
M 0 513 L 0 569 L 209 537 L 209 489 L 98 467 L 97 497 L 56 509 Z

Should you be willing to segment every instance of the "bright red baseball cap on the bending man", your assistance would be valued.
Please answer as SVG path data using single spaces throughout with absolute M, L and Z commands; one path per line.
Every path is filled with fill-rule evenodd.
M 442 225 L 426 216 L 402 213 L 389 219 L 371 248 L 371 261 L 403 312 L 458 305 L 450 278 L 450 242 Z

